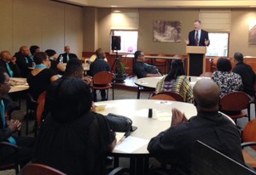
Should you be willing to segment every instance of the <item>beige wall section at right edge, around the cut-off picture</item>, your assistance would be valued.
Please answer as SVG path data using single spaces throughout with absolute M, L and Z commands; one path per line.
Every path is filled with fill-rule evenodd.
M 246 9 L 233 9 L 230 31 L 230 56 L 240 51 L 244 56 L 256 56 L 256 45 L 248 45 L 249 22 L 256 21 L 256 12 Z

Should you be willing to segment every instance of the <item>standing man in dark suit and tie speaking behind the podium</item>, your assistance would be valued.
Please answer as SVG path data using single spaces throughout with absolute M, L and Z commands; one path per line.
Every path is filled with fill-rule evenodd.
M 188 46 L 209 46 L 210 40 L 208 32 L 201 29 L 201 20 L 194 21 L 194 31 L 189 32 L 189 40 L 186 40 Z

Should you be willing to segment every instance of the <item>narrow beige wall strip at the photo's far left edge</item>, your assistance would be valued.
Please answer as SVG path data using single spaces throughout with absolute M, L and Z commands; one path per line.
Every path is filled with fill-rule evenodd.
M 0 51 L 12 52 L 12 1 L 0 1 Z

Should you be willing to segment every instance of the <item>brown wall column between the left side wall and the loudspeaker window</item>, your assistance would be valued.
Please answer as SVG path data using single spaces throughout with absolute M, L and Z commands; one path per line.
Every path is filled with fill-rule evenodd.
M 83 51 L 96 50 L 96 8 L 84 8 L 84 48 Z

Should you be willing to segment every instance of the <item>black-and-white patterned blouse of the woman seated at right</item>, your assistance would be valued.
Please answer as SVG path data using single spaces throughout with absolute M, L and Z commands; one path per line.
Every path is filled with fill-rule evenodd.
M 214 71 L 212 80 L 217 82 L 220 88 L 219 97 L 223 97 L 227 93 L 242 90 L 241 76 L 229 71 Z

